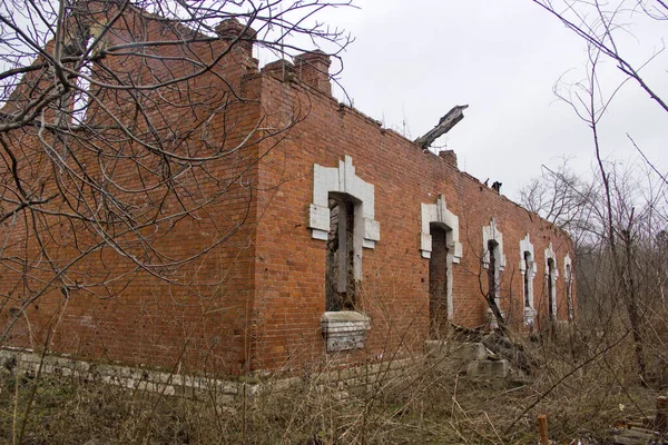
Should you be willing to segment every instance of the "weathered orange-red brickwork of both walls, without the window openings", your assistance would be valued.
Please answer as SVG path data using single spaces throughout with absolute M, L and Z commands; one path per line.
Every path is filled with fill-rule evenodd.
M 223 40 L 194 46 L 188 51 L 205 58 L 224 51 L 228 41 L 225 38 L 234 39 L 240 29 L 232 22 L 224 23 L 219 28 Z M 121 29 L 110 36 L 120 39 L 124 32 Z M 77 241 L 94 245 L 99 243 L 99 234 L 55 215 L 45 216 L 35 227 L 20 218 L 11 226 L 6 221 L 2 230 L 11 243 L 0 260 L 4 297 L 0 314 L 9 324 L 17 309 L 26 307 L 11 330 L 9 345 L 39 349 L 51 332 L 49 347 L 58 353 L 165 368 L 183 365 L 193 372 L 206 369 L 217 374 L 296 370 L 323 358 L 353 364 L 421 350 L 430 336 L 430 258 L 425 257 L 423 231 L 430 226 L 423 221 L 422 209 L 423 205 L 439 201 L 458 218 L 459 225 L 459 250 L 455 253 L 454 245 L 448 250 L 456 258 L 444 265 L 443 253 L 434 251 L 432 264 L 434 270 L 451 268 L 448 280 L 452 323 L 488 323 L 483 227 L 492 221 L 503 240 L 504 267 L 499 271 L 498 285 L 501 310 L 509 325 L 527 329 L 520 251 L 527 235 L 536 264 L 537 327 L 549 322 L 546 251 L 553 255 L 558 271 L 557 318 L 569 318 L 564 258 L 569 256 L 570 261 L 574 255 L 566 233 L 460 171 L 453 152 L 425 152 L 377 121 L 338 103 L 331 97 L 326 75 L 330 61 L 324 53 L 302 55 L 295 59 L 295 66 L 275 62 L 258 71 L 250 51 L 247 42 L 235 44 L 214 72 L 196 78 L 193 93 L 198 88 L 218 92 L 202 108 L 194 112 L 190 108 L 185 116 L 174 106 L 179 100 L 175 95 L 168 101 L 158 101 L 154 109 L 154 118 L 161 119 L 171 137 L 185 135 L 180 142 L 191 150 L 188 154 L 212 155 L 213 144 L 217 144 L 216 150 L 229 149 L 227 156 L 209 162 L 206 170 L 193 167 L 183 178 L 184 188 L 191 187 L 212 198 L 206 207 L 191 206 L 197 209 L 181 218 L 156 220 L 146 228 L 146 246 L 164 255 L 176 259 L 203 250 L 206 255 L 175 267 L 173 275 L 163 270 L 160 278 L 155 270 L 138 267 L 130 257 L 105 246 L 70 269 L 87 277 L 99 276 L 98 287 L 68 287 L 63 297 L 62 286 L 55 280 L 32 298 L 31 289 L 42 288 L 49 276 L 38 270 L 42 259 L 35 234 L 40 233 L 40 227 L 49 227 L 51 233 L 57 227 L 59 240 L 53 241 L 57 248 L 52 251 L 59 255 L 55 258 L 59 267 L 80 254 L 75 247 Z M 131 58 L 117 59 L 109 68 L 130 72 L 132 63 Z M 187 70 L 165 69 L 171 75 Z M 37 75 L 27 76 L 23 83 L 4 112 L 20 109 L 30 100 L 29 95 L 39 93 Z M 118 107 L 122 116 L 131 119 L 122 111 L 122 98 L 100 96 L 99 100 Z M 216 112 L 218 109 L 223 111 Z M 97 116 L 95 107 L 88 112 L 88 119 Z M 262 129 L 255 130 L 258 122 Z M 197 131 L 189 131 L 193 128 Z M 163 137 L 168 135 L 163 132 Z M 242 141 L 245 145 L 240 149 L 232 149 Z M 8 142 L 21 154 L 20 168 L 32 169 L 33 175 L 40 174 L 40 168 L 50 168 L 37 129 L 17 129 Z M 116 148 L 120 152 L 138 149 L 132 142 Z M 73 149 L 85 151 L 86 147 L 75 144 Z M 89 165 L 100 165 L 95 154 L 82 156 Z M 321 329 L 326 240 L 314 235 L 310 212 L 317 187 L 315 166 L 334 169 L 340 165 L 348 169 L 352 165 L 355 178 L 373 186 L 372 196 L 361 204 L 365 208 L 361 225 L 355 226 L 355 230 L 364 231 L 360 235 L 360 249 L 355 250 L 361 253 L 361 258 L 355 259 L 360 267 L 355 271 L 355 309 L 369 317 L 371 328 L 363 348 L 327 354 Z M 90 168 L 92 177 L 101 175 Z M 138 186 L 134 168 L 136 165 L 130 161 L 120 165 L 116 181 L 127 189 Z M 56 190 L 58 179 L 49 179 L 45 187 Z M 86 191 L 80 198 L 96 202 L 99 197 L 95 191 Z M 132 202 L 139 208 L 158 196 L 145 194 L 144 201 L 136 196 L 128 199 L 135 199 Z M 174 196 L 164 199 L 167 209 L 179 205 Z M 351 199 L 360 201 L 355 196 Z M 63 210 L 68 204 L 56 199 L 49 206 L 51 210 Z M 373 218 L 367 218 L 371 208 Z M 212 243 L 218 238 L 222 243 Z M 443 238 L 442 234 L 434 237 L 434 245 L 443 244 Z M 128 245 L 128 249 L 132 248 Z M 140 253 L 138 247 L 136 254 Z M 12 256 L 26 258 L 37 271 L 21 273 L 12 266 Z M 107 283 L 105 275 L 115 279 Z M 443 286 L 441 297 L 442 294 Z

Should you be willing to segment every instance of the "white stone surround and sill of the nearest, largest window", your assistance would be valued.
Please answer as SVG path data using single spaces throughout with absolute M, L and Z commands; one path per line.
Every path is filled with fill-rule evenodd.
M 338 167 L 313 165 L 313 202 L 308 209 L 308 228 L 313 239 L 327 240 L 330 233 L 330 194 L 351 197 L 354 205 L 353 254 L 355 280 L 362 280 L 362 251 L 375 248 L 381 225 L 374 219 L 374 186 L 355 172 L 353 158 L 345 156 Z M 367 316 L 351 310 L 327 312 L 321 318 L 327 352 L 364 347 Z

